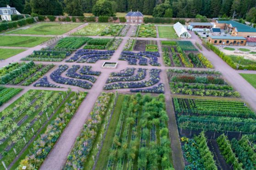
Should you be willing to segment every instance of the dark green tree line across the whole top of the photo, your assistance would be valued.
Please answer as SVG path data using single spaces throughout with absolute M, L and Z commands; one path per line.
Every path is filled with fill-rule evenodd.
M 114 16 L 115 12 L 141 11 L 154 17 L 195 18 L 196 15 L 243 18 L 256 22 L 256 0 L 0 0 L 22 13 Z

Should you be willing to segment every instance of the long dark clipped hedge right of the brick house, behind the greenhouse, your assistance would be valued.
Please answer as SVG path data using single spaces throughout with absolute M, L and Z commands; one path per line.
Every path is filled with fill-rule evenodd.
M 143 19 L 144 23 L 176 23 L 176 22 L 180 22 L 181 24 L 185 24 L 185 20 L 184 19 L 180 19 L 180 18 L 148 18 L 148 17 L 144 17 Z

